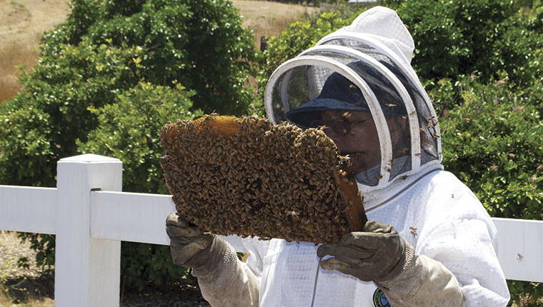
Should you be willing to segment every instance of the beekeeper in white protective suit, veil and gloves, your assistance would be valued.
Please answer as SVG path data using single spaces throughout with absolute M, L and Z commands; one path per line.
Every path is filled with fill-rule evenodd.
M 507 305 L 496 228 L 443 171 L 413 49 L 397 14 L 377 6 L 274 72 L 269 120 L 324 129 L 352 158 L 370 222 L 316 246 L 214 236 L 172 213 L 173 261 L 193 268 L 211 306 Z M 250 253 L 246 263 L 236 251 Z

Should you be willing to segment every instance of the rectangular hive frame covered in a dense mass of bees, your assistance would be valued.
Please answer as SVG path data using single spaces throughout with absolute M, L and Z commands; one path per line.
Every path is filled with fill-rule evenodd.
M 160 139 L 179 215 L 211 233 L 332 243 L 365 218 L 349 158 L 319 129 L 212 114 Z

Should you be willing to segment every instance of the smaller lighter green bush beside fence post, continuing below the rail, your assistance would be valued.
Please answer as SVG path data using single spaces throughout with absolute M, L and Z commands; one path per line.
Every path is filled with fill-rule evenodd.
M 117 102 L 100 109 L 91 109 L 99 125 L 88 140 L 76 141 L 81 153 L 101 154 L 123 162 L 123 191 L 169 193 L 159 158 L 164 156 L 159 133 L 164 123 L 176 119 L 192 119 L 201 112 L 191 113 L 189 96 L 181 86 L 170 89 L 152 84 L 138 84 L 119 94 Z M 171 263 L 169 246 L 122 242 L 121 275 L 126 285 L 160 286 L 175 281 L 185 268 Z

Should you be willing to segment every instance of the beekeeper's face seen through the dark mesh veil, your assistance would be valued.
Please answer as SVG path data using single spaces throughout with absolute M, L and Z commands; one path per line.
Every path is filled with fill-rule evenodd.
M 379 165 L 379 137 L 369 112 L 322 111 L 324 133 L 340 154 L 352 157 L 354 173 Z

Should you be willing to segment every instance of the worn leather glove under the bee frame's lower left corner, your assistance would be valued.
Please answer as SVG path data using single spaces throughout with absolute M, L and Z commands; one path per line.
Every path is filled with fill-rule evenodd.
M 177 213 L 170 213 L 166 218 L 166 233 L 174 264 L 196 269 L 204 275 L 222 260 L 228 244 L 214 234 L 189 226 Z

